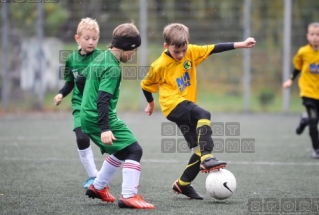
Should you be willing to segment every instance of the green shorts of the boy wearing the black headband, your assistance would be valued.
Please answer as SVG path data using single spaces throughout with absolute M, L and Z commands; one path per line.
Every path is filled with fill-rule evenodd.
M 87 133 L 90 139 L 100 148 L 102 154 L 113 154 L 136 142 L 135 136 L 122 120 L 117 119 L 111 122 L 110 128 L 116 138 L 116 140 L 113 140 L 113 145 L 102 143 L 100 132 Z

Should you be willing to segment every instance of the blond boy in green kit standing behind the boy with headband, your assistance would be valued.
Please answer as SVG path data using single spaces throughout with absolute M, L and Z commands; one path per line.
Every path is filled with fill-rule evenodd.
M 100 38 L 100 30 L 98 23 L 91 19 L 82 19 L 78 24 L 75 40 L 79 45 L 79 50 L 70 54 L 65 63 L 65 84 L 59 93 L 54 97 L 55 105 L 59 105 L 62 99 L 66 97 L 72 90 L 72 114 L 73 114 L 73 131 L 76 136 L 76 143 L 80 160 L 89 176 L 83 183 L 83 187 L 87 189 L 94 181 L 97 175 L 97 169 L 94 162 L 93 152 L 90 146 L 88 135 L 84 134 L 81 129 L 80 108 L 82 95 L 80 95 L 75 86 L 76 77 L 82 73 L 93 59 L 101 53 L 96 48 Z

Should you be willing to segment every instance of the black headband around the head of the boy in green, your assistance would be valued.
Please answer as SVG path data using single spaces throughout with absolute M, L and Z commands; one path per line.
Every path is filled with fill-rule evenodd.
M 111 45 L 115 48 L 129 51 L 141 45 L 141 36 L 136 37 L 113 37 Z

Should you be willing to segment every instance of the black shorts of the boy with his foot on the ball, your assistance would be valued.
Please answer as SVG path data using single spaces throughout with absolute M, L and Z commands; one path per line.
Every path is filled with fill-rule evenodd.
M 176 123 L 190 149 L 198 145 L 196 132 L 197 121 L 191 120 L 192 109 L 196 106 L 197 105 L 193 102 L 183 101 L 167 116 L 169 121 Z

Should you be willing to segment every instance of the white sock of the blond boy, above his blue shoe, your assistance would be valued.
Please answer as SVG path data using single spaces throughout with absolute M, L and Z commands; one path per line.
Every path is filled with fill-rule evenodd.
M 97 169 L 94 162 L 94 156 L 91 146 L 87 149 L 79 150 L 80 160 L 89 175 L 89 177 L 96 177 L 97 176 Z

